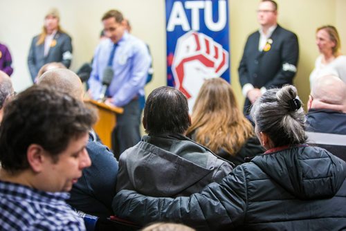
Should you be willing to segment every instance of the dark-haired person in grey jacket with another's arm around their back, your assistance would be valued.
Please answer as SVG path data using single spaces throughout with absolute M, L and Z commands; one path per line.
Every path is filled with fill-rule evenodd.
M 183 93 L 161 86 L 149 94 L 143 126 L 148 136 L 120 155 L 116 190 L 149 196 L 182 196 L 219 182 L 232 171 L 230 163 L 184 136 L 190 126 Z

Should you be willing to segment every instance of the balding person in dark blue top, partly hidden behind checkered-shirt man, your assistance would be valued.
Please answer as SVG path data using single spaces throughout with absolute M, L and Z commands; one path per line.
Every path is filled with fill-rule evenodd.
M 62 89 L 83 102 L 84 88 L 80 77 L 68 69 L 46 71 L 37 84 Z M 111 201 L 116 194 L 118 161 L 106 146 L 96 140 L 93 130 L 89 131 L 86 151 L 91 167 L 83 169 L 82 178 L 73 185 L 67 203 L 87 214 L 108 217 L 113 213 Z

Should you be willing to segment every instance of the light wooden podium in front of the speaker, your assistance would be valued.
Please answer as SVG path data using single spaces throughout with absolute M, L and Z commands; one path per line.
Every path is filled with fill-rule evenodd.
M 102 143 L 111 149 L 111 132 L 116 126 L 116 114 L 121 114 L 124 109 L 96 100 L 84 100 L 84 102 L 98 109 L 98 122 L 93 126 L 93 129 L 98 133 Z

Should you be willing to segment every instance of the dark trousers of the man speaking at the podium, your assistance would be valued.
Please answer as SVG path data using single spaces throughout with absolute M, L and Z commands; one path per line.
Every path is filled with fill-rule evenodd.
M 117 115 L 116 127 L 111 134 L 114 156 L 119 160 L 120 154 L 140 141 L 140 114 L 139 100 L 131 100 L 124 107 L 124 113 Z

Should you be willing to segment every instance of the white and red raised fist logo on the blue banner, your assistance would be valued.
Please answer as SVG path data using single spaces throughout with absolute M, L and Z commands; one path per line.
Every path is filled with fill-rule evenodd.
M 189 101 L 190 110 L 204 80 L 220 77 L 228 68 L 228 52 L 211 37 L 190 31 L 176 43 L 172 73 L 176 88 Z

